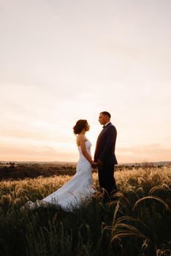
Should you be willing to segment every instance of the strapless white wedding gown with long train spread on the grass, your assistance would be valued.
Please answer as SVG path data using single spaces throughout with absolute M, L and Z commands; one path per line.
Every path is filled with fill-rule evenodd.
M 91 156 L 91 143 L 86 140 L 86 150 Z M 80 146 L 78 146 L 80 159 L 77 162 L 76 173 L 72 179 L 64 184 L 60 189 L 48 195 L 35 203 L 28 201 L 23 208 L 48 207 L 50 205 L 61 206 L 65 210 L 72 210 L 72 207 L 78 207 L 83 200 L 91 198 L 95 189 L 93 186 L 91 164 L 83 156 Z

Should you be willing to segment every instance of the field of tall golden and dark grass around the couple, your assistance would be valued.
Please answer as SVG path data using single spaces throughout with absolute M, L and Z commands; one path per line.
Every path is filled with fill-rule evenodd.
M 0 255 L 171 255 L 171 167 L 115 172 L 118 200 L 20 211 L 72 176 L 0 182 Z M 94 186 L 98 189 L 97 174 Z

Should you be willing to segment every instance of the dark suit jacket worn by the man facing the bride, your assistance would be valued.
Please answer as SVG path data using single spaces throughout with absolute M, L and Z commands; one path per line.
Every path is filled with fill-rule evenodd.
M 102 129 L 102 132 L 100 132 L 99 137 L 96 141 L 94 162 L 97 162 L 97 160 L 100 159 L 106 164 L 118 164 L 115 157 L 116 136 L 117 131 L 113 124 L 107 124 L 107 126 Z

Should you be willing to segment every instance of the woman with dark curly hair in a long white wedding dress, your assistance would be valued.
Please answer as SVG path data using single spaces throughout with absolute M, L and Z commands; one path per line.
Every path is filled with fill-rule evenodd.
M 77 147 L 80 158 L 77 162 L 76 173 L 63 187 L 51 195 L 37 200 L 35 203 L 28 201 L 23 208 L 47 207 L 50 205 L 61 206 L 65 210 L 71 210 L 73 206 L 79 206 L 83 200 L 91 198 L 95 189 L 93 187 L 91 165 L 96 165 L 91 157 L 91 142 L 86 138 L 86 132 L 90 129 L 87 120 L 80 119 L 73 127 L 77 135 Z

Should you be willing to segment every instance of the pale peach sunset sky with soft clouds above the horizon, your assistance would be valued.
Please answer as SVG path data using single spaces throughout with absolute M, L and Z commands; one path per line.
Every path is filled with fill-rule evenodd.
M 107 110 L 119 163 L 171 161 L 170 0 L 0 0 L 0 161 L 72 161 Z

